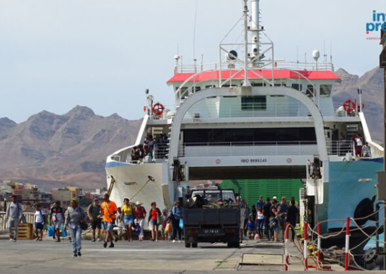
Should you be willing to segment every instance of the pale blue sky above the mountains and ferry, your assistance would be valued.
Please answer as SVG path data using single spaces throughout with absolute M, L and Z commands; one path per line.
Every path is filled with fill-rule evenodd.
M 0 0 L 0 117 L 17 123 L 47 110 L 85 105 L 96 114 L 143 116 L 144 90 L 172 105 L 177 50 L 192 63 L 219 59 L 219 42 L 242 15 L 241 0 Z M 384 0 L 261 0 L 276 59 L 329 55 L 336 69 L 362 75 L 378 65 L 379 36 L 366 34 Z M 228 37 L 236 42 L 241 24 Z M 234 41 L 232 39 L 235 39 Z

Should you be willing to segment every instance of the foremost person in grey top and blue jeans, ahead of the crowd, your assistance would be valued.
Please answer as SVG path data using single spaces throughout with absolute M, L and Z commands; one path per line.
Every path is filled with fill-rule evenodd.
M 67 230 L 67 226 L 70 228 L 71 240 L 72 240 L 72 257 L 81 257 L 82 249 L 82 229 L 81 222 L 85 222 L 86 215 L 81 207 L 78 207 L 78 200 L 72 199 L 70 201 L 70 207 L 65 211 L 65 223 L 63 230 Z

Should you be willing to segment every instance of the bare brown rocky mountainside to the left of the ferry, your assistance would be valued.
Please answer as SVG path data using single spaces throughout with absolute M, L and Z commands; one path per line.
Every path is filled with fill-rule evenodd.
M 45 189 L 105 185 L 105 158 L 134 143 L 140 120 L 102 117 L 77 106 L 64 115 L 40 112 L 24 123 L 0 119 L 0 180 L 32 182 Z

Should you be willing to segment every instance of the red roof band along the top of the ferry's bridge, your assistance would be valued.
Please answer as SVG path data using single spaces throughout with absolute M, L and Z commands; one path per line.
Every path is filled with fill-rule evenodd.
M 238 70 L 223 70 L 221 71 L 221 78 L 227 79 L 230 78 L 230 76 L 233 76 L 236 74 Z M 254 73 L 256 72 L 256 74 Z M 296 70 L 299 74 L 305 76 L 305 78 L 309 80 L 339 80 L 340 78 L 334 74 L 334 72 L 331 71 L 316 71 L 316 70 Z M 303 78 L 299 74 L 297 74 L 294 71 L 291 70 L 274 70 L 274 78 L 292 78 L 292 79 L 298 79 Z M 234 79 L 243 79 L 244 78 L 244 70 L 240 73 L 238 73 L 236 76 L 234 76 Z M 194 75 L 193 72 L 190 73 L 177 73 L 174 74 L 172 78 L 170 78 L 167 83 L 173 83 L 173 82 L 185 82 L 187 78 Z M 201 72 L 200 74 L 197 74 L 196 77 L 192 77 L 189 81 L 193 82 L 201 82 L 201 81 L 211 81 L 219 80 L 220 78 L 220 72 L 219 70 L 215 70 L 213 72 Z M 259 79 L 259 78 L 272 78 L 272 70 L 253 70 L 253 72 L 250 70 L 248 72 L 248 78 L 250 79 Z

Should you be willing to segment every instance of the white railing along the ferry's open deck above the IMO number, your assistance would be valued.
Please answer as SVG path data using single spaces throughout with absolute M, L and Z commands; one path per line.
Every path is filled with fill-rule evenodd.
M 329 155 L 354 156 L 352 142 L 327 142 Z M 205 156 L 304 156 L 318 154 L 316 141 L 212 142 L 183 143 L 179 157 Z

